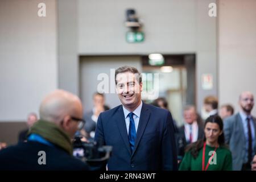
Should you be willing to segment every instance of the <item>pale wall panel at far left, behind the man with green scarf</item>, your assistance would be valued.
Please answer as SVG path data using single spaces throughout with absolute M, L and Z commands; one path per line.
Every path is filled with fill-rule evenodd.
M 56 1 L 1 0 L 0 24 L 0 121 L 25 121 L 57 88 Z

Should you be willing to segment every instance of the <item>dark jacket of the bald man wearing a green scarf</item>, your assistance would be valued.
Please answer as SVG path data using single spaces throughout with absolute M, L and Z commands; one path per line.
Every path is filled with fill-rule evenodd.
M 46 152 L 46 165 L 38 164 L 39 151 Z M 39 142 L 23 142 L 0 151 L 0 171 L 2 170 L 88 170 L 89 166 L 75 159 L 59 147 L 47 146 Z

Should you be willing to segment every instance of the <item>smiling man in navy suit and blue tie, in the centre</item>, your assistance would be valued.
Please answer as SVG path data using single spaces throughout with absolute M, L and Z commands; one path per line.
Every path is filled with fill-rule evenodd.
M 115 70 L 122 105 L 100 114 L 95 139 L 113 146 L 109 170 L 176 170 L 174 124 L 170 111 L 141 100 L 142 77 L 136 68 Z

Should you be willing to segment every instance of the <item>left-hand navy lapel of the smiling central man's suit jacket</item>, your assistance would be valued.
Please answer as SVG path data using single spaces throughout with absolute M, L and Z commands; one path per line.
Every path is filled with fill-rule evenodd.
M 130 143 L 127 135 L 126 125 L 125 125 L 125 116 L 123 115 L 122 105 L 119 107 L 117 111 L 117 118 L 115 118 L 115 122 L 117 123 L 123 142 L 125 142 L 125 146 L 129 151 L 129 154 L 131 155 L 131 148 L 130 148 Z

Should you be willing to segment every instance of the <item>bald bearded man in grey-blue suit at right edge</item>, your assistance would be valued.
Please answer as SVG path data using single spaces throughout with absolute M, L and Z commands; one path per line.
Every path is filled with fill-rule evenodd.
M 253 94 L 242 92 L 239 105 L 239 113 L 224 120 L 224 135 L 232 151 L 233 170 L 250 171 L 251 161 L 256 151 L 256 119 L 251 115 L 254 106 Z

